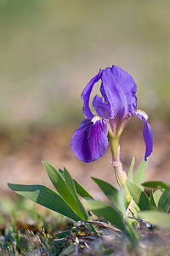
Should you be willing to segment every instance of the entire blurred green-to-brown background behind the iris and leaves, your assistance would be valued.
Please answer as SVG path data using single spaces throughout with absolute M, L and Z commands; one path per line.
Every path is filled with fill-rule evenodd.
M 42 183 L 41 161 L 63 165 L 89 192 L 90 176 L 116 183 L 111 152 L 85 164 L 70 148 L 83 119 L 80 95 L 99 68 L 122 67 L 138 84 L 154 152 L 146 179 L 170 183 L 170 2 L 168 0 L 0 1 L 0 194 L 7 182 Z M 143 125 L 121 139 L 127 171 L 144 158 Z

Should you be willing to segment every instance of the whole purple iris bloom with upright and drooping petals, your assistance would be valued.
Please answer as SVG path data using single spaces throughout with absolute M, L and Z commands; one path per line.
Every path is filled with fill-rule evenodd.
M 93 107 L 89 108 L 89 98 L 94 84 L 101 79 L 101 96 L 94 96 Z M 152 152 L 153 137 L 147 114 L 137 110 L 137 85 L 133 78 L 122 68 L 112 66 L 100 69 L 99 73 L 89 81 L 82 91 L 82 102 L 85 119 L 71 138 L 71 149 L 77 158 L 84 162 L 92 162 L 105 154 L 109 140 L 114 160 L 119 147 L 119 137 L 133 117 L 144 122 L 144 160 Z

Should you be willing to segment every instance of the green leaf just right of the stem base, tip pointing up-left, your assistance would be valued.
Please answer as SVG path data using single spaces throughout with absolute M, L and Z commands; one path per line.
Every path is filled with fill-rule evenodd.
M 140 187 L 137 184 L 131 182 L 128 178 L 126 183 L 127 189 L 129 190 L 130 194 L 133 197 L 133 201 L 135 201 L 139 209 L 141 211 L 149 210 L 150 200 L 149 197 L 144 193 L 144 191 L 140 189 Z

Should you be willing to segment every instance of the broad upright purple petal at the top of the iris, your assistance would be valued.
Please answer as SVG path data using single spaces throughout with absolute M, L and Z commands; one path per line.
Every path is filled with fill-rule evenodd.
M 111 106 L 111 116 L 122 119 L 124 115 L 137 110 L 137 85 L 133 78 L 122 68 L 112 66 L 102 73 L 101 93 L 105 102 Z

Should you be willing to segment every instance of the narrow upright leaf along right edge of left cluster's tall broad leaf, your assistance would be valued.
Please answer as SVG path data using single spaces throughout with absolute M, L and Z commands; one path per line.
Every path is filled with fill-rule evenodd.
M 82 202 L 78 198 L 77 190 L 75 188 L 75 183 L 74 183 L 74 181 L 73 181 L 73 179 L 71 177 L 71 174 L 65 168 L 64 168 L 64 174 L 65 174 L 65 183 L 71 189 L 72 194 L 76 198 L 78 207 L 80 208 L 84 218 L 88 219 L 88 213 L 86 212 L 85 208 L 82 206 Z

